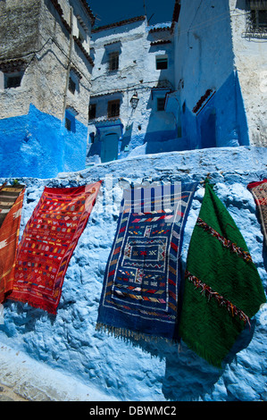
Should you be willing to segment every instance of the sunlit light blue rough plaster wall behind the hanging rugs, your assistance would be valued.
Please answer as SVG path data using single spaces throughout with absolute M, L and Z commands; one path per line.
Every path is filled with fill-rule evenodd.
M 267 290 L 267 254 L 250 181 L 266 177 L 267 149 L 222 147 L 123 159 L 98 164 L 57 178 L 19 179 L 27 185 L 21 233 L 45 186 L 71 187 L 104 180 L 88 225 L 71 257 L 57 315 L 17 302 L 4 304 L 3 345 L 26 352 L 46 365 L 70 374 L 122 400 L 266 400 L 266 307 L 254 316 L 251 330 L 238 338 L 222 369 L 208 365 L 184 343 L 122 340 L 96 332 L 104 270 L 113 244 L 122 189 L 129 182 L 203 181 L 209 172 L 246 244 Z M 0 180 L 5 181 L 5 178 Z M 196 191 L 182 248 L 183 267 L 196 223 L 203 185 Z M 105 205 L 105 206 L 104 206 Z

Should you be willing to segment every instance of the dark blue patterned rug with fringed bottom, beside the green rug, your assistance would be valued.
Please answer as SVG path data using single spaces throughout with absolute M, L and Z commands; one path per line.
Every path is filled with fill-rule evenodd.
M 178 339 L 179 256 L 196 186 L 124 190 L 96 330 Z

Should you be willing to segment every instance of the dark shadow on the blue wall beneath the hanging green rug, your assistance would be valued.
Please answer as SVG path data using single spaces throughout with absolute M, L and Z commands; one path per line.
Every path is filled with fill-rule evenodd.
M 236 357 L 242 349 L 246 349 L 252 340 L 255 321 L 252 321 L 251 328 L 247 326 L 241 332 L 229 355 L 225 358 L 221 368 L 210 365 L 202 357 L 199 357 L 194 351 L 188 349 L 188 346 L 181 342 L 171 344 L 164 340 L 157 342 L 151 340 L 128 340 L 132 346 L 141 348 L 144 352 L 151 354 L 152 357 L 158 357 L 165 360 L 165 375 L 163 377 L 162 391 L 164 398 L 173 401 L 197 401 L 204 400 L 206 395 L 211 395 L 213 386 L 218 382 L 227 365 Z M 192 374 L 188 374 L 190 371 Z M 185 381 L 187 384 L 185 384 Z M 185 388 L 187 394 L 185 396 Z M 223 399 L 221 394 L 220 398 Z M 231 399 L 228 391 L 228 400 Z

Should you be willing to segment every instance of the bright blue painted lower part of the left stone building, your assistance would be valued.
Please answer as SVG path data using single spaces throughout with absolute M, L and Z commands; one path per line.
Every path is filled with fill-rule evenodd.
M 85 168 L 88 128 L 63 122 L 34 105 L 29 113 L 0 120 L 0 176 L 49 178 Z

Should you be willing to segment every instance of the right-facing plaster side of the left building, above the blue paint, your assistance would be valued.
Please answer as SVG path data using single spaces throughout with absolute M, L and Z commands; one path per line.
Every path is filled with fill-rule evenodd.
M 70 2 L 69 0 L 61 0 L 63 7 L 63 18 L 71 26 L 71 6 L 73 6 L 73 35 L 79 37 L 79 21 L 77 15 L 87 25 L 88 32 L 84 34 L 86 37 L 83 42 L 85 50 L 90 52 L 90 29 L 91 23 L 87 14 L 83 11 L 79 2 Z M 83 124 L 88 123 L 88 102 L 90 96 L 90 80 L 92 66 L 88 62 L 77 43 L 72 40 L 63 27 L 62 21 L 58 18 L 57 12 L 54 10 L 50 0 L 44 0 L 41 9 L 41 26 L 40 39 L 42 46 L 48 44 L 38 55 L 36 82 L 42 84 L 42 88 L 38 88 L 36 96 L 38 97 L 37 107 L 41 111 L 51 113 L 59 119 L 64 117 L 65 105 L 71 106 L 76 110 L 76 119 Z M 51 39 L 54 39 L 53 42 Z M 68 63 L 71 59 L 71 68 L 75 68 L 79 72 L 81 79 L 79 86 L 72 94 L 68 87 Z

